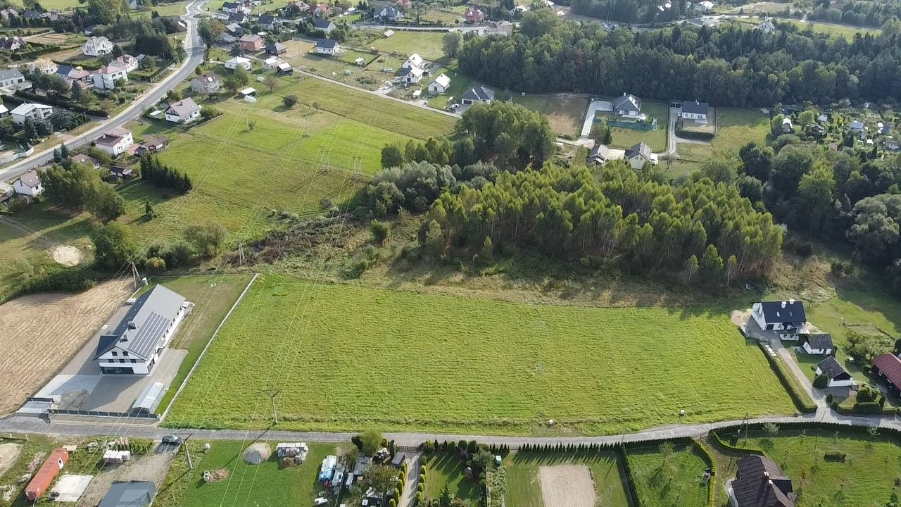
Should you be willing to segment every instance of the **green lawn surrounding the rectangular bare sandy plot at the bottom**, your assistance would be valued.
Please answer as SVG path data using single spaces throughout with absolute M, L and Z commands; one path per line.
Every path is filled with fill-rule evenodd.
M 613 452 L 515 452 L 506 456 L 506 505 L 545 507 L 538 471 L 542 466 L 585 465 L 595 479 L 599 505 L 629 507 L 622 466 Z

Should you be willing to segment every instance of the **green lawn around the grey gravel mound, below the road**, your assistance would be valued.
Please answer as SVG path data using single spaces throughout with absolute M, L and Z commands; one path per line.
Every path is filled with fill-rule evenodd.
M 331 444 L 309 444 L 303 465 L 280 468 L 274 452 L 277 442 L 268 442 L 272 456 L 260 465 L 247 465 L 241 457 L 253 440 L 217 440 L 210 442 L 208 451 L 203 450 L 204 443 L 197 441 L 191 447 L 194 470 L 187 467 L 185 455 L 179 452 L 159 488 L 155 507 L 313 505 L 321 491 L 316 482 L 319 466 L 323 457 L 334 454 L 337 448 Z M 222 469 L 228 470 L 227 478 L 204 483 L 205 470 Z

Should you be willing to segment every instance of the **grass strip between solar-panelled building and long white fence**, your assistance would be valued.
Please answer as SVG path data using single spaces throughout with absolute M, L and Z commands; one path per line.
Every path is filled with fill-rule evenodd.
M 150 280 L 150 285 L 144 291 L 162 284 L 195 304 L 191 315 L 178 327 L 178 332 L 169 345 L 169 348 L 187 350 L 187 355 L 178 367 L 178 373 L 172 380 L 171 387 L 159 401 L 158 413 L 166 410 L 178 386 L 185 381 L 187 373 L 191 371 L 200 353 L 213 337 L 216 327 L 219 327 L 228 310 L 232 309 L 232 305 L 241 296 L 241 291 L 247 287 L 251 278 L 249 274 L 235 274 L 161 277 Z

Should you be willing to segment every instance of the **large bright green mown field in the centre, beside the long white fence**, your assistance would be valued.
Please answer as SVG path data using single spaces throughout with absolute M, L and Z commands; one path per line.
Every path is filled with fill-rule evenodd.
M 281 374 L 274 357 L 302 374 Z M 725 310 L 525 305 L 266 275 L 168 423 L 256 427 L 278 388 L 285 429 L 612 434 L 794 411 Z

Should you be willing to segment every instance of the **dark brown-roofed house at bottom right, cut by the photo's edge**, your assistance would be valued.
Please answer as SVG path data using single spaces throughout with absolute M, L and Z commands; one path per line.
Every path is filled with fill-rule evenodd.
M 771 459 L 747 456 L 736 466 L 735 479 L 726 484 L 733 507 L 796 507 L 791 479 Z

